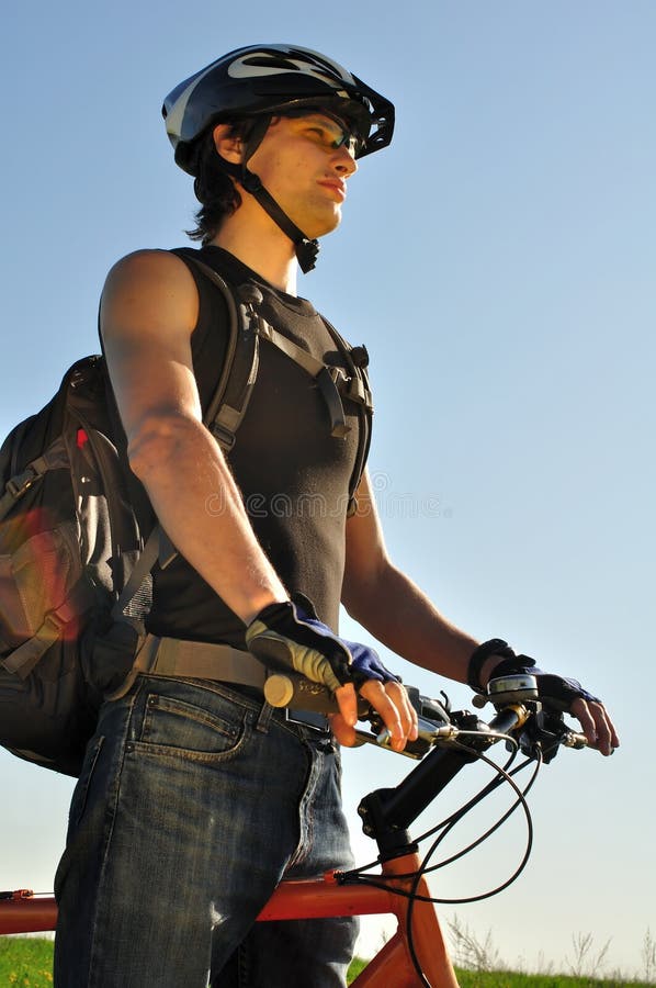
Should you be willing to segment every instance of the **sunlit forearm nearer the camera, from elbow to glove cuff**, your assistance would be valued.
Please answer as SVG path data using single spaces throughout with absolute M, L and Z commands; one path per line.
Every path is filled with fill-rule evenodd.
M 235 614 L 248 622 L 286 599 L 223 453 L 200 422 L 159 418 L 135 437 L 128 456 L 177 550 Z

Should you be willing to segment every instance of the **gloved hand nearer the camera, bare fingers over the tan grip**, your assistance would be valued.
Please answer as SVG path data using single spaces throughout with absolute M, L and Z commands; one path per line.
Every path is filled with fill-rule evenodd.
M 381 715 L 394 749 L 416 740 L 417 715 L 398 678 L 373 649 L 338 638 L 301 594 L 264 607 L 247 627 L 246 643 L 267 665 L 292 669 L 335 693 L 340 712 L 332 716 L 332 729 L 341 744 L 355 742 L 355 689 Z

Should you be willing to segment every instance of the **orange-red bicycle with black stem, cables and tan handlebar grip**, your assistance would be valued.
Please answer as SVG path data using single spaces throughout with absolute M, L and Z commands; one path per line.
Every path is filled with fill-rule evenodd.
M 535 678 L 514 675 L 491 680 L 485 695 L 474 697 L 478 708 L 491 703 L 495 717 L 486 722 L 470 710 L 450 709 L 448 698 L 429 699 L 414 687 L 407 687 L 419 718 L 419 737 L 410 742 L 404 754 L 418 764 L 393 788 L 376 789 L 365 796 L 358 812 L 364 832 L 377 845 L 374 863 L 350 872 L 328 872 L 321 877 L 285 880 L 258 917 L 258 921 L 316 919 L 338 916 L 391 913 L 396 917 L 397 930 L 392 939 L 369 962 L 352 981 L 352 988 L 457 988 L 457 980 L 442 934 L 436 903 L 426 875 L 432 869 L 430 860 L 440 841 L 482 799 L 501 784 L 514 791 L 514 802 L 483 835 L 448 862 L 463 856 L 483 843 L 518 808 L 522 807 L 528 822 L 528 842 L 523 857 L 514 873 L 490 892 L 460 901 L 472 901 L 495 895 L 507 888 L 525 866 L 531 852 L 532 823 L 525 796 L 533 785 L 540 766 L 551 762 L 562 745 L 580 749 L 586 738 L 566 727 L 562 714 L 548 711 L 538 701 Z M 324 687 L 291 675 L 273 675 L 264 689 L 272 706 L 330 710 L 330 698 Z M 387 734 L 371 710 L 361 707 L 361 717 L 370 721 L 371 730 L 359 730 L 359 743 L 387 745 Z M 504 741 L 510 751 L 506 765 L 491 761 L 486 750 Z M 525 760 L 513 766 L 517 755 Z M 436 799 L 454 776 L 477 760 L 491 765 L 495 777 L 464 806 L 423 834 L 440 835 L 421 860 L 418 842 L 408 828 Z M 514 776 L 533 764 L 533 772 L 523 789 Z M 380 871 L 370 874 L 371 868 Z M 22 889 L 0 892 L 0 933 L 54 930 L 57 908 L 53 897 L 35 896 Z

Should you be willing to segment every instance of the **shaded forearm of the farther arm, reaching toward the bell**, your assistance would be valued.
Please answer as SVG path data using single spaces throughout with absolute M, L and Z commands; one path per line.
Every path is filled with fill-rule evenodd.
M 344 585 L 343 603 L 380 642 L 409 662 L 465 683 L 478 642 L 452 625 L 419 587 L 389 562 L 355 588 Z

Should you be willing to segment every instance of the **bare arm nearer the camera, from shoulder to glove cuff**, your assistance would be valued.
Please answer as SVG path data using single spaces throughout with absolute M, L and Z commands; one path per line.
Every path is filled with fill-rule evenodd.
M 132 469 L 177 549 L 248 622 L 287 594 L 202 424 L 191 356 L 197 312 L 184 262 L 167 251 L 142 251 L 110 271 L 101 332 Z

